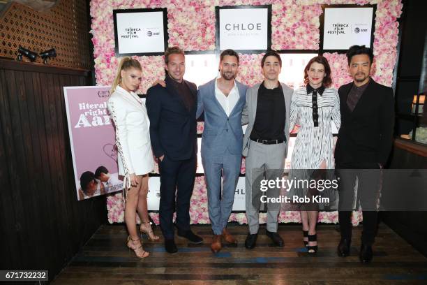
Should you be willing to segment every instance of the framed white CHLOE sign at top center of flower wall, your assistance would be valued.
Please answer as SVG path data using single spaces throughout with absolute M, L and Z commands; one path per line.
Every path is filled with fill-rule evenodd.
M 216 7 L 218 50 L 265 52 L 271 45 L 271 5 Z

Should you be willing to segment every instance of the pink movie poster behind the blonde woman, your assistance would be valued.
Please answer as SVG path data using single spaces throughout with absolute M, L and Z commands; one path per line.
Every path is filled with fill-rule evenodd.
M 108 86 L 63 87 L 78 200 L 120 191 Z

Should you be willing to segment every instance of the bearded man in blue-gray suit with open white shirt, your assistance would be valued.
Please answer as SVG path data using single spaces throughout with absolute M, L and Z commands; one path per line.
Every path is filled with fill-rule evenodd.
M 247 89 L 245 85 L 234 80 L 238 68 L 237 52 L 224 50 L 220 54 L 220 78 L 200 86 L 197 92 L 196 117 L 200 117 L 204 112 L 201 154 L 207 182 L 213 252 L 222 248 L 222 238 L 227 243 L 237 243 L 227 231 L 227 221 L 232 212 L 234 190 L 239 180 L 243 142 L 241 111 Z

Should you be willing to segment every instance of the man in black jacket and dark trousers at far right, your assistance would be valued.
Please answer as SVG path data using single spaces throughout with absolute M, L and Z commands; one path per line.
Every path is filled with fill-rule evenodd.
M 353 45 L 347 51 L 347 60 L 353 82 L 338 89 L 341 126 L 335 150 L 340 178 L 338 255 L 350 254 L 350 220 L 357 180 L 357 200 L 360 200 L 364 218 L 359 258 L 368 263 L 372 260 L 377 228 L 380 169 L 387 162 L 393 141 L 394 96 L 390 87 L 369 77 L 373 62 L 370 48 Z

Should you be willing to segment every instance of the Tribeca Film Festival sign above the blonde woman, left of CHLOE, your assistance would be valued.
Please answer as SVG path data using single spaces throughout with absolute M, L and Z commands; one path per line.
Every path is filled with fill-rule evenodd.
M 163 54 L 167 48 L 165 8 L 113 10 L 116 54 Z

